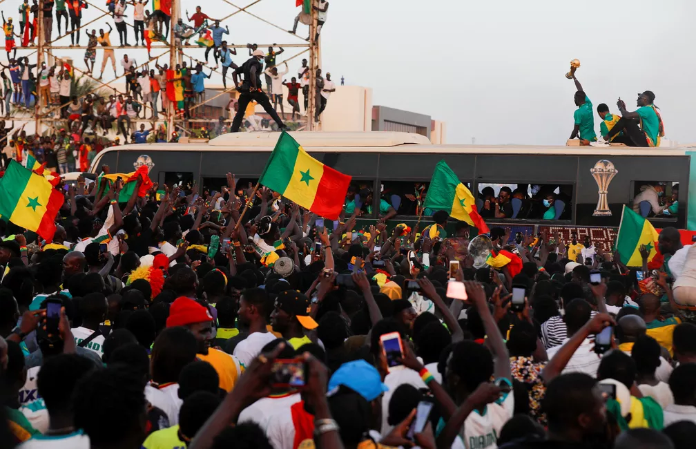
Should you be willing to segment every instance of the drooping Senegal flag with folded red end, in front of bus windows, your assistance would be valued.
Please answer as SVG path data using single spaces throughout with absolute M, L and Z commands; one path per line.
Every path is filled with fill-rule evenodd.
M 453 219 L 475 226 L 480 234 L 491 232 L 476 210 L 474 196 L 444 160 L 435 166 L 423 207 L 445 210 Z

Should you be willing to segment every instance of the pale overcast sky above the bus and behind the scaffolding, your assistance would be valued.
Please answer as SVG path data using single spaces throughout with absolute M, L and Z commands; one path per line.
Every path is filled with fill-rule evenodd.
M 232 3 L 246 6 L 244 0 Z M 103 1 L 95 4 L 102 7 Z M 182 0 L 182 15 L 197 4 L 211 16 L 236 10 L 222 0 Z M 299 11 L 294 4 L 262 0 L 248 10 L 289 29 Z M 696 142 L 691 111 L 696 2 L 330 0 L 329 5 L 322 32 L 324 71 L 336 81 L 343 75 L 346 84 L 373 88 L 374 104 L 444 120 L 448 143 L 471 143 L 475 137 L 480 144 L 563 145 L 576 109 L 573 82 L 564 77 L 572 58 L 580 59 L 577 76 L 595 109 L 606 102 L 616 112 L 620 96 L 634 110 L 636 93 L 653 90 L 667 137 Z M 18 6 L 19 0 L 5 1 L 6 17 L 9 12 L 17 17 Z M 90 8 L 84 17 L 96 13 Z M 127 14 L 132 20 L 132 7 Z M 100 19 L 95 28 L 107 20 L 113 23 Z M 230 26 L 226 38 L 234 43 L 301 42 L 245 13 L 223 24 Z M 306 33 L 300 25 L 298 35 Z M 132 42 L 132 29 L 128 38 Z M 118 43 L 116 33 L 112 42 Z M 68 43 L 64 38 L 58 45 Z M 161 51 L 153 49 L 153 56 Z M 63 52 L 81 60 L 77 52 Z M 144 52 L 129 53 L 140 62 Z M 287 56 L 296 52 L 286 50 Z M 118 60 L 122 54 L 117 50 Z M 193 56 L 202 58 L 203 51 Z M 233 60 L 242 63 L 245 56 Z M 290 63 L 290 72 L 300 59 Z M 97 68 L 101 61 L 97 52 Z M 595 125 L 599 132 L 599 118 Z

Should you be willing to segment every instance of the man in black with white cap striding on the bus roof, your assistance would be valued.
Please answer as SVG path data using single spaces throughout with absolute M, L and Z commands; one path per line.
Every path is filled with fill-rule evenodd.
M 232 81 L 235 81 L 237 91 L 239 91 L 241 95 L 239 95 L 239 109 L 237 110 L 237 114 L 235 114 L 235 119 L 232 120 L 231 132 L 239 132 L 242 119 L 244 119 L 244 111 L 246 111 L 246 107 L 252 101 L 260 104 L 264 111 L 266 111 L 271 118 L 276 120 L 281 130 L 287 129 L 285 124 L 283 124 L 283 120 L 280 120 L 278 113 L 273 109 L 268 96 L 261 89 L 261 60 L 264 56 L 266 55 L 263 50 L 256 49 L 248 61 L 232 72 Z M 244 74 L 244 82 L 241 86 L 239 85 L 239 74 Z

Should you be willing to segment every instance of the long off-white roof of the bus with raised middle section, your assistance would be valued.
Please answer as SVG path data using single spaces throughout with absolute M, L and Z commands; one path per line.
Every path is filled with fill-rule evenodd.
M 432 145 L 425 136 L 404 132 L 291 132 L 303 148 L 314 152 L 404 152 L 413 154 L 511 154 L 564 156 L 683 156 L 696 147 L 635 148 L 551 145 Z M 239 132 L 223 134 L 200 143 L 150 143 L 120 145 L 105 152 L 139 151 L 271 151 L 278 141 L 278 132 Z M 386 148 L 389 148 L 386 150 Z

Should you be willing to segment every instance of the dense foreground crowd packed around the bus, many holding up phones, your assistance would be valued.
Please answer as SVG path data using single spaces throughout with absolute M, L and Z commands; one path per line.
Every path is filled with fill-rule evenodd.
M 231 173 L 214 196 L 109 173 L 56 186 L 51 241 L 0 221 L 3 447 L 690 447 L 674 228 L 655 271 L 499 227 L 476 269 L 444 211 L 358 226 L 352 187 L 332 222 Z

